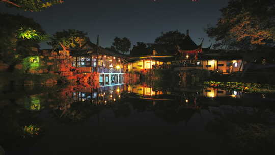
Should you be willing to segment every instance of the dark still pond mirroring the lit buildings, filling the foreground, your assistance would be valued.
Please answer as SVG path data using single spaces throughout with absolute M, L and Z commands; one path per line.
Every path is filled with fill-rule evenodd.
M 0 145 L 6 154 L 147 149 L 231 154 L 274 144 L 265 141 L 274 128 L 274 94 L 121 84 L 2 88 L 0 95 Z M 262 144 L 251 143 L 259 130 Z

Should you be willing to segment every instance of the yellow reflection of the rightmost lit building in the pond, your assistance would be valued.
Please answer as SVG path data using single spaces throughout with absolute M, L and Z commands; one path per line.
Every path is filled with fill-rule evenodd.
M 219 88 L 208 87 L 203 89 L 203 96 L 204 97 L 233 97 L 233 98 L 240 98 L 242 96 L 242 92 L 237 91 L 229 91 L 223 90 Z

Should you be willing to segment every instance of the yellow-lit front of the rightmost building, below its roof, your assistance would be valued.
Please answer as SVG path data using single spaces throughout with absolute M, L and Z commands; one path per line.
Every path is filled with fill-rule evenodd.
M 224 74 L 242 71 L 242 57 L 234 55 L 207 54 L 201 57 L 203 69 L 221 72 Z

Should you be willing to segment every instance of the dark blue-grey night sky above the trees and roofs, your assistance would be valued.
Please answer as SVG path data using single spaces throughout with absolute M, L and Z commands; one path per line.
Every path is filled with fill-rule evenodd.
M 228 0 L 65 0 L 41 12 L 24 12 L 6 8 L 0 3 L 0 12 L 21 14 L 33 18 L 49 34 L 63 29 L 78 29 L 88 32 L 92 42 L 100 36 L 100 45 L 111 46 L 115 36 L 127 37 L 132 45 L 137 41 L 152 43 L 161 32 L 179 30 L 203 46 L 210 41 L 203 31 L 208 24 L 215 25 L 221 16 L 219 9 Z M 212 41 L 213 42 L 213 41 Z M 46 43 L 41 49 L 50 48 Z

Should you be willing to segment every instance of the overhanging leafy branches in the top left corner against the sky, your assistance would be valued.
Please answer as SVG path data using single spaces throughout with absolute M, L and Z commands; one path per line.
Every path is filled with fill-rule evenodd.
M 7 7 L 18 8 L 25 11 L 35 11 L 39 12 L 45 8 L 51 7 L 52 5 L 61 4 L 64 1 L 62 0 L 51 0 L 51 1 L 42 1 L 42 0 L 0 0 L 5 3 Z

